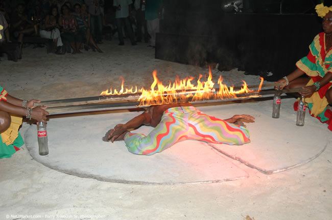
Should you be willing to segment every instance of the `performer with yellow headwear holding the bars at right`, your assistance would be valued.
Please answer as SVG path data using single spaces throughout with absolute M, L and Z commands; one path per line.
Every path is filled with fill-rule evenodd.
M 280 89 L 306 89 L 300 94 L 305 97 L 310 114 L 332 130 L 332 6 L 319 4 L 315 9 L 323 18 L 324 32 L 314 38 L 307 56 L 296 63 L 297 69 L 277 82 L 283 83 Z M 304 73 L 310 78 L 300 77 Z

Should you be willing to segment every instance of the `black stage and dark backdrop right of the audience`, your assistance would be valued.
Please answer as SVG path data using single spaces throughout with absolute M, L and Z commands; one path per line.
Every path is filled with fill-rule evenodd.
M 231 1 L 228 1 L 231 2 Z M 227 1 L 165 0 L 156 38 L 156 58 L 277 80 L 291 73 L 322 32 L 311 0 L 244 0 L 242 13 Z M 318 1 L 319 4 L 319 1 Z M 266 76 L 272 71 L 273 75 Z

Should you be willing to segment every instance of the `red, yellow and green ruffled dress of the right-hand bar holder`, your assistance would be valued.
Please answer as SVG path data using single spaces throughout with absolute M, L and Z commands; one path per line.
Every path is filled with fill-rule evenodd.
M 311 77 L 307 86 L 311 86 L 314 82 L 324 77 L 325 73 L 332 72 L 332 50 L 326 51 L 325 33 L 319 33 L 309 46 L 309 53 L 296 63 L 297 68 Z M 318 118 L 322 123 L 328 124 L 328 129 L 332 130 L 332 111 L 327 108 L 328 102 L 325 94 L 332 87 L 332 80 L 328 84 L 321 87 L 317 92 L 305 98 L 305 102 L 309 107 L 310 114 Z M 294 103 L 294 109 L 297 108 L 297 102 Z

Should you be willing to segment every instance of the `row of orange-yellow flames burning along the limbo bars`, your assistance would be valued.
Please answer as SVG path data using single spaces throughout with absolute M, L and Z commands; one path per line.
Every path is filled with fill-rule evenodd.
M 168 86 L 164 86 L 157 77 L 157 71 L 153 71 L 153 83 L 149 90 L 141 89 L 137 90 L 131 87 L 130 89 L 124 88 L 124 78 L 120 77 L 122 80 L 121 90 L 117 91 L 112 88 L 110 90 L 103 91 L 101 95 L 122 95 L 122 94 L 141 94 L 138 98 L 140 102 L 139 105 L 155 105 L 155 104 L 170 104 L 175 102 L 191 102 L 191 101 L 202 101 L 209 99 L 225 99 L 225 98 L 238 98 L 236 94 L 250 93 L 250 90 L 244 80 L 243 85 L 240 90 L 234 91 L 234 87 L 227 87 L 223 84 L 223 77 L 220 76 L 218 79 L 219 90 L 215 89 L 215 82 L 212 81 L 212 74 L 209 68 L 209 74 L 206 81 L 201 81 L 203 75 L 199 75 L 197 80 L 197 86 L 192 84 L 194 77 L 186 77 L 180 79 L 176 76 L 175 82 L 173 84 L 171 81 Z M 257 91 L 260 91 L 263 85 L 264 79 L 260 77 L 260 84 Z

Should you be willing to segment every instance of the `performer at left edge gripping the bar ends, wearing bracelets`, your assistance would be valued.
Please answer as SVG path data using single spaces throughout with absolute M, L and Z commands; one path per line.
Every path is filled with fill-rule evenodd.
M 35 102 L 40 101 L 15 98 L 0 86 L 0 159 L 11 157 L 24 144 L 18 132 L 22 116 L 42 122 L 46 121 L 46 116 L 49 115 L 44 110 L 46 107 L 34 107 Z

